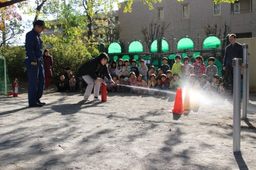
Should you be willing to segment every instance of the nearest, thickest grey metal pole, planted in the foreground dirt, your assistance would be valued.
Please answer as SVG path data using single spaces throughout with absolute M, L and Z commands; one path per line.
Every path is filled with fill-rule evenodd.
M 233 152 L 240 151 L 241 143 L 241 66 L 242 59 L 234 58 Z

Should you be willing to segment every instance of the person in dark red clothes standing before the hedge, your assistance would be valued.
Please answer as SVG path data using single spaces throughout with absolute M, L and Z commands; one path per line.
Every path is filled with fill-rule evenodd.
M 44 76 L 46 77 L 46 88 L 49 87 L 49 82 L 52 78 L 52 56 L 49 55 L 49 50 L 45 49 L 43 54 L 44 61 Z

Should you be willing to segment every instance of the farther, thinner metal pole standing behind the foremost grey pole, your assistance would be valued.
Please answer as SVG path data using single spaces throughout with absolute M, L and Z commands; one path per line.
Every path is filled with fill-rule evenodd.
M 248 78 L 248 44 L 243 44 L 243 116 L 247 118 L 247 78 Z

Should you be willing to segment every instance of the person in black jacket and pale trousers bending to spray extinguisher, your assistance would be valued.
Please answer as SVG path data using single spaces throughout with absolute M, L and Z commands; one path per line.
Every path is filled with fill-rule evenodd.
M 79 75 L 85 80 L 88 84 L 84 94 L 84 100 L 89 101 L 90 94 L 94 86 L 94 99 L 96 101 L 101 101 L 98 99 L 98 94 L 100 92 L 101 83 L 103 79 L 100 78 L 100 74 L 106 76 L 109 79 L 109 82 L 114 84 L 112 80 L 109 69 L 106 63 L 108 62 L 109 56 L 106 53 L 101 53 L 99 56 L 86 61 L 79 67 Z

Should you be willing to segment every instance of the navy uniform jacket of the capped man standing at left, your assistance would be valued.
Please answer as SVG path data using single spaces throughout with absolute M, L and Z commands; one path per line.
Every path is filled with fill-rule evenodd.
M 43 44 L 39 36 L 40 34 L 34 28 L 26 34 L 25 48 L 29 65 L 32 60 L 42 58 Z

